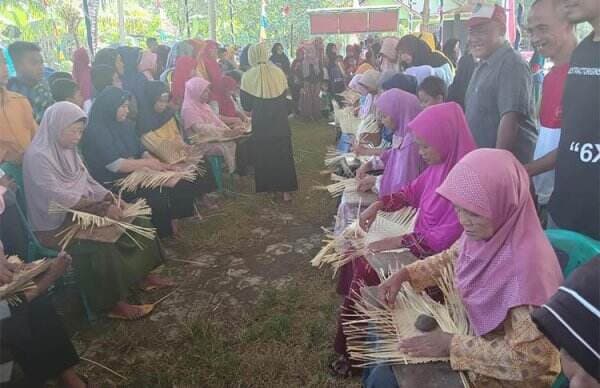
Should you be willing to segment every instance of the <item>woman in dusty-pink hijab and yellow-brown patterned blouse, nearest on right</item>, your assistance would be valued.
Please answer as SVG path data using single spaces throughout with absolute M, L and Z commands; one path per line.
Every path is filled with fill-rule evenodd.
M 452 369 L 466 372 L 474 387 L 551 386 L 560 372 L 559 354 L 530 311 L 553 295 L 562 274 L 536 215 L 527 172 L 508 151 L 480 149 L 465 156 L 437 192 L 456 208 L 464 234 L 445 252 L 404 267 L 379 287 L 379 295 L 393 306 L 404 282 L 422 290 L 453 263 L 474 334 L 438 330 L 405 339 L 400 349 L 449 357 Z M 376 368 L 366 386 L 382 374 L 389 375 L 389 367 Z

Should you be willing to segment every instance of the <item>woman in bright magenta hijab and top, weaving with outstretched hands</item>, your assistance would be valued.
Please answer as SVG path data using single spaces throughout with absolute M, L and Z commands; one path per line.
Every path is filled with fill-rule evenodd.
M 449 248 L 462 233 L 452 204 L 436 190 L 452 167 L 475 149 L 475 141 L 461 107 L 453 102 L 424 110 L 408 126 L 429 167 L 410 184 L 371 205 L 360 222 L 368 229 L 380 210 L 418 209 L 412 234 L 375 242 L 370 249 L 381 252 L 404 247 L 417 257 L 426 257 Z

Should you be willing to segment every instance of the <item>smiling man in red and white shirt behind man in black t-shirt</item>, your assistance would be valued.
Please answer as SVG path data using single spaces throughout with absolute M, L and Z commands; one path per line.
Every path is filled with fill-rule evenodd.
M 562 128 L 562 95 L 569 71 L 571 54 L 577 46 L 573 24 L 566 18 L 557 0 L 536 0 L 527 17 L 531 43 L 554 67 L 544 77 L 540 105 L 540 134 L 535 147 L 535 161 L 527 166 L 533 176 L 540 205 L 547 205 L 554 190 L 554 165 Z

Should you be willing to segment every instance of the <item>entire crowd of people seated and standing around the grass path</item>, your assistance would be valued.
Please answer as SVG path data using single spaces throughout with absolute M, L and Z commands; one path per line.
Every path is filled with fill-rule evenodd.
M 364 256 L 341 268 L 331 372 L 360 371 L 344 326 L 362 287 L 378 286 L 390 306 L 406 282 L 439 299 L 432 286 L 453 263 L 474 334 L 425 333 L 402 341 L 403 351 L 448 357 L 478 387 L 550 386 L 561 365 L 572 387 L 600 386 L 600 258 L 563 283 L 569 252 L 557 253 L 544 231 L 570 231 L 600 252 L 600 5 L 537 0 L 528 15 L 536 52 L 553 63 L 539 109 L 531 69 L 505 40 L 506 11 L 497 5 L 473 10 L 464 53 L 459 40 L 441 47 L 425 32 L 369 37 L 345 56 L 316 38 L 293 61 L 279 43 L 238 52 L 211 40 L 168 47 L 149 38 L 145 49 L 107 47 L 93 61 L 79 48 L 66 73 L 46 69 L 35 43 L 0 51 L 0 286 L 18 270 L 6 255 L 31 259 L 32 240 L 60 251 L 72 221 L 49 212 L 52 204 L 118 220 L 127 203 L 144 199 L 151 219 L 132 222 L 157 232 L 141 247 L 126 236 L 77 239 L 19 303 L 0 301 L 0 366 L 8 372 L 0 383 L 10 379 L 12 357 L 31 386 L 58 379 L 85 387 L 47 289 L 72 267 L 89 310 L 147 316 L 153 307 L 130 304 L 131 289 L 173 287 L 152 274 L 162 246 L 175 241 L 182 220 L 218 206 L 221 175 L 252 173 L 257 192 L 292 200 L 289 117 L 320 120 L 342 107 L 365 125 L 338 133 L 337 150 L 364 162 L 352 172 L 361 199 L 342 197 L 335 233 L 355 221 L 368 230 L 382 212 L 418 213 L 412 233 L 368 246 L 373 255 L 411 253 L 388 280 L 380 284 Z M 583 22 L 593 32 L 577 42 Z M 348 92 L 357 98 L 344 98 Z M 162 142 L 210 162 L 208 173 L 122 192 L 117 182 L 131 173 L 182 168 L 152 146 Z M 386 365 L 360 373 L 367 387 L 399 385 Z

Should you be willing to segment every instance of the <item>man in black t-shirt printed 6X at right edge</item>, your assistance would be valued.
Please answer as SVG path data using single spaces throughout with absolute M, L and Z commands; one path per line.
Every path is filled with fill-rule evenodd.
M 588 22 L 594 31 L 571 57 L 549 209 L 558 227 L 600 240 L 600 1 L 563 4 L 572 23 Z

